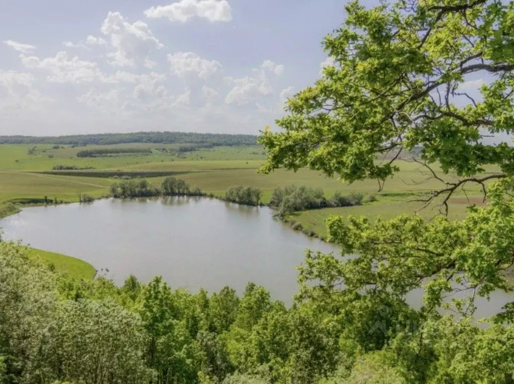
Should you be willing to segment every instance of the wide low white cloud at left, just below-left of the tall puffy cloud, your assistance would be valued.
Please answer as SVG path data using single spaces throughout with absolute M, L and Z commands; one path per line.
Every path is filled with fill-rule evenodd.
M 69 59 L 64 51 L 56 57 L 46 57 L 41 60 L 36 56 L 21 56 L 22 64 L 27 68 L 39 68 L 50 71 L 47 80 L 52 83 L 89 83 L 103 79 L 104 75 L 98 69 L 97 63 L 82 61 L 78 56 Z

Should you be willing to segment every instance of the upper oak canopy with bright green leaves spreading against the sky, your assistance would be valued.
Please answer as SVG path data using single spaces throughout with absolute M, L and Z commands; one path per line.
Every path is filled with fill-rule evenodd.
M 261 171 L 310 167 L 353 182 L 383 182 L 400 152 L 421 146 L 466 181 L 498 165 L 514 175 L 514 148 L 485 135 L 514 130 L 514 3 L 402 0 L 365 9 L 354 1 L 324 48 L 334 65 L 288 101 L 266 129 Z M 464 83 L 482 79 L 480 97 Z M 476 92 L 475 92 L 476 93 Z M 377 153 L 393 159 L 376 164 Z

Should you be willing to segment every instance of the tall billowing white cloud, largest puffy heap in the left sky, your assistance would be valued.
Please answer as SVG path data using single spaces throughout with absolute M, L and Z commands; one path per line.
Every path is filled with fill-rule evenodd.
M 114 52 L 108 54 L 112 65 L 136 67 L 148 62 L 148 55 L 163 45 L 153 35 L 148 25 L 141 21 L 130 24 L 119 12 L 110 12 L 105 18 L 101 31 L 109 36 Z

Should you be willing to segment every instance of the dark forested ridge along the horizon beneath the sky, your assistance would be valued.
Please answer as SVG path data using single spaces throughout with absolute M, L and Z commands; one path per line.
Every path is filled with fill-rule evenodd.
M 72 136 L 0 136 L 0 144 L 109 145 L 125 143 L 202 143 L 218 145 L 255 145 L 254 135 L 227 135 L 194 132 L 100 133 Z

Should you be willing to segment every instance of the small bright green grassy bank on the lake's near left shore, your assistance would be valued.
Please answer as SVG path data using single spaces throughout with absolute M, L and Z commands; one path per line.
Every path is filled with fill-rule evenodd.
M 56 272 L 69 274 L 73 278 L 93 279 L 95 268 L 93 265 L 71 256 L 59 253 L 42 251 L 41 249 L 29 248 L 29 258 L 40 258 L 45 264 L 53 264 Z

